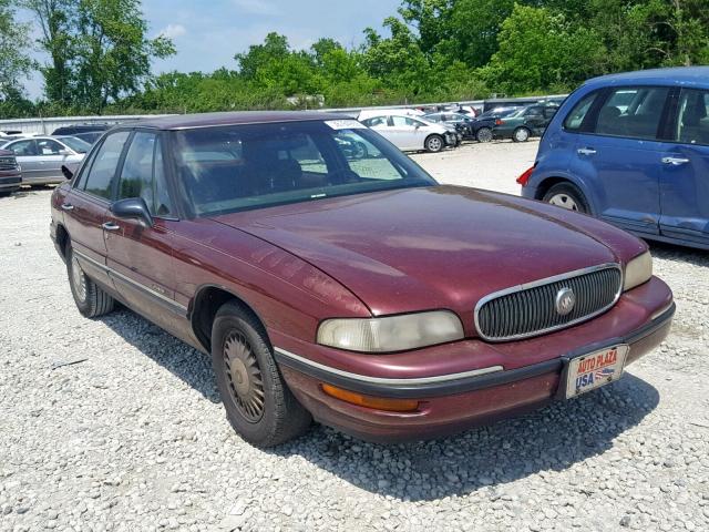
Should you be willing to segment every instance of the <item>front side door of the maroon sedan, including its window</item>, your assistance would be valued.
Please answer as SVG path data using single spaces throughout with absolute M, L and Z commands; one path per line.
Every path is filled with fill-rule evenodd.
M 120 218 L 109 209 L 103 227 L 106 266 L 116 291 L 131 308 L 176 331 L 186 308 L 175 303 L 172 249 L 178 221 L 165 184 L 163 161 L 160 134 L 136 131 L 119 172 L 115 200 L 142 198 L 154 224 Z

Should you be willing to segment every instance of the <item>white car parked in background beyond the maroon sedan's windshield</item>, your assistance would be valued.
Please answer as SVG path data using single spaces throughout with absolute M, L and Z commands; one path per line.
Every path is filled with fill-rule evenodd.
M 379 114 L 370 116 L 360 114 L 359 121 L 401 151 L 440 152 L 445 146 L 460 144 L 460 137 L 454 129 L 429 122 L 419 116 L 381 111 Z

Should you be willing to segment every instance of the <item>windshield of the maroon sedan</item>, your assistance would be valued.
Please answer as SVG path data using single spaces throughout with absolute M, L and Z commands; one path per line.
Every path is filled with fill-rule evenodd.
M 354 120 L 204 127 L 173 135 L 178 181 L 197 216 L 436 184 Z

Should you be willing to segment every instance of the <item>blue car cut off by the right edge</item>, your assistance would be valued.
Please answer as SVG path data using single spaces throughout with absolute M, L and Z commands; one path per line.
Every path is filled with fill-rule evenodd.
M 709 249 L 709 66 L 587 81 L 517 183 L 524 197 Z

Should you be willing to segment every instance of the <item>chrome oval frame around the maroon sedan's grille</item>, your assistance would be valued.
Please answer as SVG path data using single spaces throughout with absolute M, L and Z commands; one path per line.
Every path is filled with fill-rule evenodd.
M 593 274 L 594 272 L 599 272 L 602 269 L 610 269 L 610 268 L 615 268 L 618 272 L 620 272 L 620 284 L 618 286 L 618 291 L 616 291 L 616 295 L 615 295 L 615 297 L 613 298 L 613 301 L 609 305 L 596 310 L 595 313 L 592 313 L 592 314 L 589 314 L 587 316 L 584 316 L 582 318 L 575 319 L 573 321 L 568 321 L 567 324 L 557 325 L 557 326 L 554 326 L 554 327 L 549 327 L 549 328 L 541 329 L 541 330 L 535 330 L 533 332 L 527 332 L 527 334 L 523 334 L 523 335 L 507 336 L 507 337 L 504 337 L 504 338 L 490 338 L 490 337 L 483 335 L 481 332 L 481 330 L 480 330 L 480 324 L 479 324 L 480 309 L 486 303 L 489 303 L 489 301 L 491 301 L 493 299 L 496 299 L 496 298 L 503 297 L 503 296 L 507 296 L 510 294 L 514 294 L 514 293 L 517 293 L 517 291 L 528 290 L 530 288 L 536 288 L 537 286 L 544 286 L 544 285 L 548 285 L 551 283 L 556 283 L 556 282 L 559 282 L 559 280 L 566 280 L 566 279 L 571 279 L 573 277 L 578 277 L 579 275 Z M 612 308 L 616 303 L 618 303 L 618 299 L 620 298 L 620 294 L 623 294 L 623 286 L 624 285 L 625 285 L 625 272 L 623 270 L 623 267 L 618 263 L 606 263 L 606 264 L 599 264 L 597 266 L 590 266 L 588 268 L 575 269 L 574 272 L 567 272 L 565 274 L 554 275 L 552 277 L 546 277 L 544 279 L 533 280 L 532 283 L 525 283 L 523 285 L 512 286 L 510 288 L 504 288 L 502 290 L 493 291 L 492 294 L 487 294 L 485 297 L 481 298 L 477 301 L 477 305 L 475 305 L 475 313 L 474 313 L 475 330 L 477 331 L 477 335 L 485 341 L 501 342 L 501 341 L 521 340 L 523 338 L 532 338 L 534 336 L 545 335 L 547 332 L 553 332 L 555 330 L 566 329 L 566 328 L 572 327 L 574 325 L 578 325 L 578 324 L 587 321 L 587 320 L 589 320 L 592 318 L 595 318 L 596 316 L 599 316 L 603 313 L 605 313 L 606 310 L 608 310 L 609 308 Z

